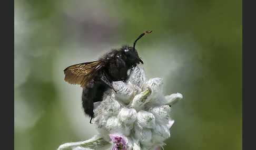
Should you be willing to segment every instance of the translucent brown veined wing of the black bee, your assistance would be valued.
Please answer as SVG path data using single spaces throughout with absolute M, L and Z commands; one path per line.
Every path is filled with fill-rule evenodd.
M 102 61 L 92 61 L 72 65 L 64 70 L 64 80 L 68 83 L 81 84 L 81 87 L 85 87 L 103 65 L 104 63 Z

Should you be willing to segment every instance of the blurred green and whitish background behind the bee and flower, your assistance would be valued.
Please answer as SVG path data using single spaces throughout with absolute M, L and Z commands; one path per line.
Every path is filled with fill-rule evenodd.
M 15 149 L 56 149 L 97 133 L 63 70 L 137 42 L 148 78 L 182 93 L 165 149 L 242 149 L 242 1 L 19 0 Z

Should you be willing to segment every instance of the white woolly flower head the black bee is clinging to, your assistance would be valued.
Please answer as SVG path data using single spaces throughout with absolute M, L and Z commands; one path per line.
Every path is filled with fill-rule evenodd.
M 113 135 L 120 134 L 120 139 L 126 141 L 125 149 L 163 146 L 174 123 L 172 105 L 182 99 L 182 94 L 165 96 L 163 80 L 146 80 L 144 70 L 138 66 L 131 69 L 126 82 L 113 82 L 113 87 L 117 92 L 110 89 L 105 92 L 103 101 L 94 103 L 93 123 L 104 140 L 113 141 Z

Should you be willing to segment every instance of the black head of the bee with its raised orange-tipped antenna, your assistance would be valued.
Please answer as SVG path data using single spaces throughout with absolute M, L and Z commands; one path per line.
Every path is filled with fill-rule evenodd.
M 137 53 L 137 50 L 135 49 L 135 45 L 136 45 L 136 42 L 137 40 L 139 40 L 141 37 L 143 37 L 144 35 L 146 34 L 150 34 L 152 33 L 152 31 L 145 31 L 143 34 L 141 34 L 133 43 L 133 47 L 123 47 L 123 51 L 124 51 L 124 55 L 127 57 L 127 59 L 129 61 L 131 61 L 132 63 L 142 63 L 143 64 L 143 61 L 140 59 L 138 53 Z

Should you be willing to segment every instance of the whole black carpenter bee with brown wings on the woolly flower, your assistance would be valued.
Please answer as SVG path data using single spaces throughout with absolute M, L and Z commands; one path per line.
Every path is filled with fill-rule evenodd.
M 83 88 L 82 103 L 85 114 L 93 119 L 93 103 L 102 101 L 104 92 L 111 88 L 113 81 L 126 81 L 127 71 L 142 63 L 136 49 L 136 41 L 152 31 L 145 31 L 133 43 L 133 47 L 123 46 L 106 53 L 98 61 L 72 65 L 64 70 L 65 81 L 81 84 Z

